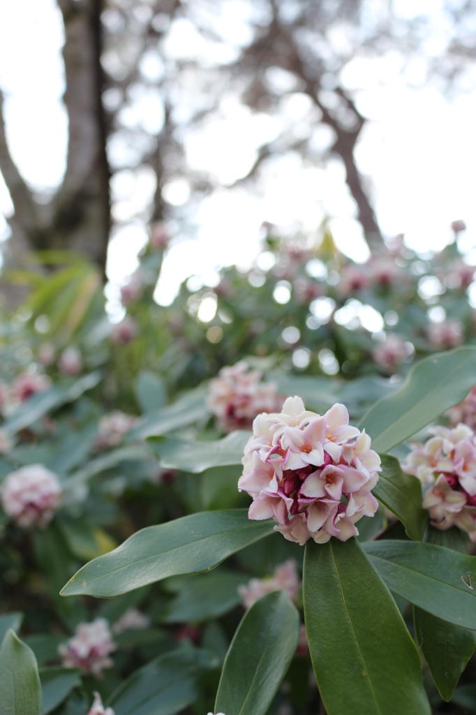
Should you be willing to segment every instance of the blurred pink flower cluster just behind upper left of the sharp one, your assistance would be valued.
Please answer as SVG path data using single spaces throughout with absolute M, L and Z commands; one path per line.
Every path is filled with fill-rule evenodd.
M 276 410 L 279 404 L 277 385 L 263 383 L 261 371 L 249 370 L 244 360 L 210 380 L 208 406 L 224 432 L 250 429 L 260 412 Z

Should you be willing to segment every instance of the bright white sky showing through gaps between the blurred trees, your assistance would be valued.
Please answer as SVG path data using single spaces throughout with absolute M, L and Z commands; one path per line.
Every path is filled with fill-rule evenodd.
M 404 12 L 406 0 L 399 1 Z M 0 86 L 7 97 L 11 152 L 29 184 L 42 189 L 53 189 L 64 172 L 67 120 L 61 104 L 61 42 L 54 0 L 0 0 Z M 345 74 L 347 85 L 360 90 L 359 107 L 371 119 L 357 159 L 374 187 L 380 225 L 390 236 L 405 233 L 410 246 L 425 251 L 443 247 L 450 239 L 450 223 L 465 220 L 465 246 L 474 250 L 476 262 L 476 93 L 449 102 L 436 89 L 409 89 L 400 66 L 392 54 L 382 61 L 356 60 Z M 415 80 L 419 71 L 415 65 Z M 298 106 L 289 107 L 296 120 L 299 111 Z M 252 161 L 249 142 L 257 146 L 272 131 L 269 120 L 252 117 L 230 100 L 213 127 L 189 140 L 189 157 L 195 166 L 212 166 L 217 176 L 230 180 L 246 172 Z M 342 176 L 338 162 L 325 171 L 303 170 L 298 157 L 288 157 L 285 165 L 277 162 L 268 169 L 264 197 L 224 189 L 202 202 L 197 235 L 186 240 L 177 236 L 167 255 L 159 301 L 172 300 L 189 275 L 212 281 L 217 266 L 251 262 L 263 220 L 312 233 L 322 217 L 330 215 L 337 245 L 355 260 L 365 260 L 367 250 Z M 133 213 L 150 191 L 146 174 L 132 182 L 123 172 L 113 185 L 116 215 Z M 169 199 L 181 204 L 187 187 L 172 185 Z M 11 202 L 0 179 L 0 233 L 5 229 L 2 213 L 11 214 Z M 144 227 L 134 222 L 117 232 L 109 253 L 112 283 L 124 280 L 145 240 Z

